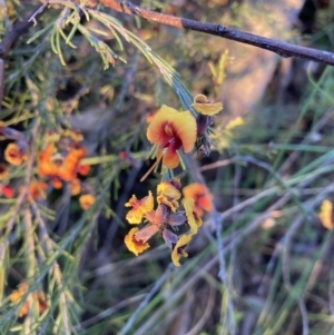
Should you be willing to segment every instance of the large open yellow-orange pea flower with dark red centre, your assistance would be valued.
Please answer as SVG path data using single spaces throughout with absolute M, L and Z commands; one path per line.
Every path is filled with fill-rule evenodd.
M 178 112 L 164 105 L 147 129 L 148 140 L 158 146 L 157 161 L 163 158 L 164 166 L 176 168 L 179 164 L 177 150 L 183 148 L 188 154 L 194 148 L 196 127 L 196 119 L 189 111 Z

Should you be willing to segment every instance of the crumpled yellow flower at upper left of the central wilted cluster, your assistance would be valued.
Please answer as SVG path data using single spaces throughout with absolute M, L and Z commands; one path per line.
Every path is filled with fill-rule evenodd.
M 151 191 L 148 191 L 148 196 L 138 200 L 135 195 L 129 199 L 128 203 L 125 204 L 126 207 L 132 207 L 131 210 L 128 211 L 126 219 L 131 225 L 138 225 L 141 223 L 143 217 L 153 210 L 154 208 L 154 197 Z

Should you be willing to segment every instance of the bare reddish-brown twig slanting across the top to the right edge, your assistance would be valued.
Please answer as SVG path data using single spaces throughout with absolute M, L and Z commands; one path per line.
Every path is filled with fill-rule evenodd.
M 314 60 L 316 62 L 322 62 L 325 65 L 334 66 L 334 53 L 323 50 L 316 50 L 312 48 L 305 48 L 301 46 L 295 46 L 286 43 L 283 41 L 277 41 L 274 39 L 256 36 L 253 33 L 239 31 L 233 28 L 228 28 L 224 24 L 209 23 L 195 21 L 189 19 L 184 19 L 179 17 L 174 17 L 169 14 L 158 13 L 151 10 L 143 9 L 128 1 L 117 1 L 117 0 L 100 0 L 100 2 L 118 12 L 122 12 L 130 16 L 138 16 L 149 21 L 155 21 L 161 24 L 167 24 L 170 27 L 179 29 L 189 29 L 194 31 L 199 31 L 208 35 L 218 36 L 225 39 L 238 41 L 246 45 L 252 45 L 257 48 L 273 51 L 281 57 L 297 57 L 307 60 Z

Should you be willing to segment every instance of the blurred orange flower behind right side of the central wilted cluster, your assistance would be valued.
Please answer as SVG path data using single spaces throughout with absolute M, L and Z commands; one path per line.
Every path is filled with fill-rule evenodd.
M 193 183 L 184 187 L 183 194 L 185 198 L 195 200 L 195 213 L 198 217 L 203 217 L 204 210 L 210 211 L 213 209 L 213 195 L 207 187 L 199 183 Z

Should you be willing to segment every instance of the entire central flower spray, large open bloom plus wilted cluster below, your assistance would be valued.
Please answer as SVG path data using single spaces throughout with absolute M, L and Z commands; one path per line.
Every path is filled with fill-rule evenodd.
M 147 129 L 147 138 L 154 145 L 153 152 L 157 160 L 147 175 L 161 161 L 167 169 L 176 168 L 181 160 L 181 152 L 189 154 L 196 149 L 209 154 L 212 141 L 207 134 L 213 122 L 213 116 L 223 109 L 220 102 L 210 102 L 206 96 L 194 98 L 196 117 L 190 111 L 179 112 L 171 107 L 163 106 L 153 117 Z M 132 228 L 125 238 L 127 248 L 136 256 L 149 247 L 148 239 L 159 233 L 166 245 L 171 249 L 171 260 L 179 266 L 179 257 L 187 257 L 185 247 L 202 226 L 203 210 L 212 209 L 212 195 L 200 184 L 190 184 L 184 188 L 183 209 L 179 209 L 181 197 L 179 179 L 164 180 L 157 187 L 157 208 L 154 210 L 154 197 L 138 200 L 134 195 L 125 204 L 131 207 L 126 219 L 131 225 L 148 225 L 144 228 Z M 183 231 L 186 230 L 184 234 Z M 178 233 L 178 234 L 176 234 Z

